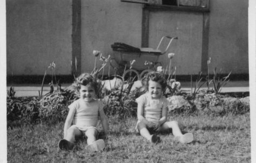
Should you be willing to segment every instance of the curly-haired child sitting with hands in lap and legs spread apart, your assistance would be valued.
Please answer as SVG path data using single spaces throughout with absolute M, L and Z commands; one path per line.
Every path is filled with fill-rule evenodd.
M 158 72 L 150 72 L 144 79 L 147 92 L 136 99 L 138 103 L 136 130 L 147 140 L 158 143 L 156 133 L 172 129 L 174 140 L 180 143 L 191 143 L 192 133 L 181 133 L 177 121 L 167 121 L 169 101 L 162 95 L 166 80 Z

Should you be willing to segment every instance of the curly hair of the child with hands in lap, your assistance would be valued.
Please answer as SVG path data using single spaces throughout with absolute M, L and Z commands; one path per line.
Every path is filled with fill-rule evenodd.
M 148 90 L 149 89 L 149 81 L 154 81 L 154 82 L 158 82 L 163 91 L 165 90 L 166 86 L 167 86 L 167 82 L 165 80 L 164 75 L 158 73 L 158 72 L 149 72 L 147 73 L 147 75 L 143 78 L 142 82 L 143 82 L 143 86 Z

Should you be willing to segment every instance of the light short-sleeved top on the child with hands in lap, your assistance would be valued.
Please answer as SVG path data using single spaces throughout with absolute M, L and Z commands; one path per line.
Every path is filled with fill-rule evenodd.
M 138 104 L 143 106 L 143 117 L 146 119 L 159 120 L 163 108 L 168 107 L 169 101 L 161 95 L 159 99 L 152 99 L 149 93 L 136 98 Z

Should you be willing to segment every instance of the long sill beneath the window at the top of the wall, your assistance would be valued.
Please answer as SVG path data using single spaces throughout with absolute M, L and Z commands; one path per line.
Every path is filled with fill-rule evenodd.
M 210 12 L 208 8 L 198 6 L 174 6 L 174 5 L 159 5 L 159 4 L 145 4 L 144 9 L 158 9 L 170 11 L 184 11 L 184 12 Z

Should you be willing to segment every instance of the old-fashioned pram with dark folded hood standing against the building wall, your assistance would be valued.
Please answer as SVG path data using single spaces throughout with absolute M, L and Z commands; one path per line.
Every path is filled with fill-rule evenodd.
M 170 39 L 170 41 L 162 52 L 159 47 L 163 44 L 162 42 L 165 38 Z M 111 45 L 114 52 L 113 59 L 118 63 L 119 67 L 126 67 L 126 70 L 123 73 L 124 79 L 133 76 L 137 77 L 137 80 L 140 80 L 150 71 L 150 69 L 156 69 L 158 64 L 161 65 L 158 61 L 159 56 L 167 52 L 173 39 L 178 38 L 163 36 L 156 49 L 137 48 L 122 42 L 114 42 L 114 44 Z M 135 62 L 132 63 L 133 60 L 135 60 Z

